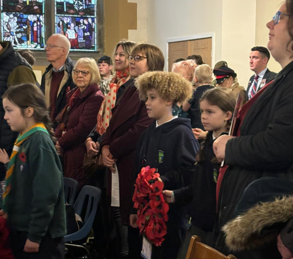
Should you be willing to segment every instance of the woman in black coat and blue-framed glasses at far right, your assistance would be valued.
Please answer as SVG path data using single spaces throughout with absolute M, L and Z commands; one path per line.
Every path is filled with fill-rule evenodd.
M 243 105 L 238 113 L 235 136 L 220 136 L 214 142 L 218 160 L 225 159 L 228 166 L 226 170 L 222 168 L 217 182 L 215 247 L 224 254 L 233 253 L 237 259 L 282 258 L 277 239 L 256 249 L 232 251 L 225 245 L 226 236 L 221 229 L 237 216 L 244 189 L 254 180 L 268 176 L 293 181 L 293 0 L 281 5 L 267 27 L 268 49 L 282 70 L 274 81 Z M 251 202 L 255 195 L 251 194 Z M 249 232 L 258 228 L 253 225 L 253 218 L 246 225 Z M 236 236 L 241 237 L 239 230 L 234 229 Z M 270 229 L 266 233 L 274 234 L 268 231 Z M 253 237 L 250 241 L 253 242 Z

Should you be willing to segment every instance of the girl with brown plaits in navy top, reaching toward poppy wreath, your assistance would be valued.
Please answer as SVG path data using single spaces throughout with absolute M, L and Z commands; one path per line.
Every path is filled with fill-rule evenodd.
M 192 225 L 180 249 L 179 259 L 185 258 L 193 235 L 199 236 L 201 242 L 212 245 L 211 235 L 216 220 L 216 183 L 220 168 L 213 152 L 213 142 L 229 132 L 235 98 L 230 89 L 213 88 L 204 92 L 199 104 L 201 121 L 208 133 L 196 156 L 192 184 L 173 192 L 163 191 L 167 202 L 189 205 L 188 215 L 191 216 Z

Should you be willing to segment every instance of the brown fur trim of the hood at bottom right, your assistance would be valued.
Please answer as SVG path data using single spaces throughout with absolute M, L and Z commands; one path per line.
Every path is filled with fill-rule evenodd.
M 293 195 L 260 202 L 228 222 L 222 230 L 232 251 L 261 247 L 277 238 L 293 217 Z

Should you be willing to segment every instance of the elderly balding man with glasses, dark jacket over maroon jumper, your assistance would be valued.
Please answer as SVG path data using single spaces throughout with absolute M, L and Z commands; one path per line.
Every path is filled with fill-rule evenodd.
M 74 87 L 72 80 L 73 62 L 68 57 L 70 42 L 62 34 L 53 34 L 48 39 L 45 50 L 47 60 L 51 64 L 42 76 L 41 90 L 45 94 L 55 129 L 57 127 L 56 116 L 66 103 L 66 91 Z

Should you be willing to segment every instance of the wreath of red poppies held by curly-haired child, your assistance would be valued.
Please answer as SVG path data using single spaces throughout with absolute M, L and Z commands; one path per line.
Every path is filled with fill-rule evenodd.
M 140 234 L 145 235 L 155 246 L 161 246 L 167 233 L 169 205 L 163 197 L 164 183 L 155 168 L 143 167 L 135 182 L 132 197 L 133 207 L 137 209 L 136 224 Z

